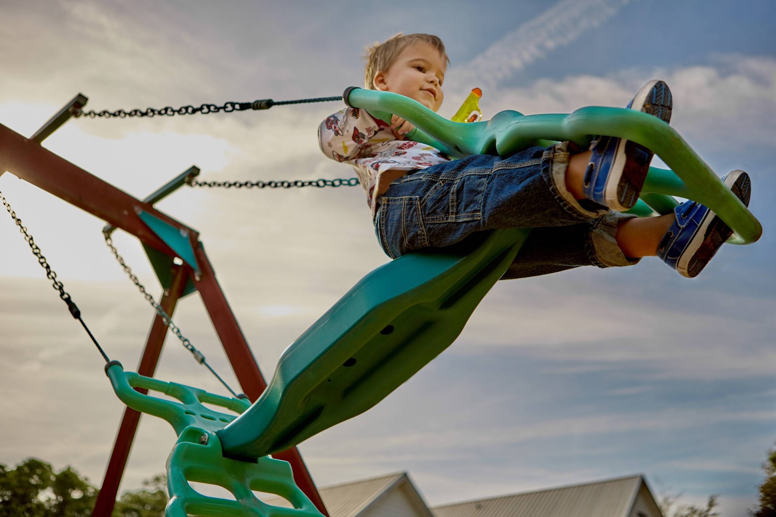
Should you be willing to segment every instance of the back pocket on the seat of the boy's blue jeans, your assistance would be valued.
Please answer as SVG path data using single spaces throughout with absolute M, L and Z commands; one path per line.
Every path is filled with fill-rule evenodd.
M 420 197 L 389 198 L 380 203 L 379 240 L 392 259 L 412 250 L 428 247 L 428 236 L 421 218 Z

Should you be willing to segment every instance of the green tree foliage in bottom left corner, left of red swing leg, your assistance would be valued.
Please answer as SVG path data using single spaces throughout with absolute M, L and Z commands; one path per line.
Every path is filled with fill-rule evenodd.
M 88 517 L 96 495 L 70 467 L 55 473 L 35 458 L 10 470 L 0 464 L 0 517 Z

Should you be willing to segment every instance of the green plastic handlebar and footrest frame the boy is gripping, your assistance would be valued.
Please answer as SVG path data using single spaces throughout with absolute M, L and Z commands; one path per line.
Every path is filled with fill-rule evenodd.
M 348 88 L 345 104 L 369 110 L 379 116 L 395 113 L 417 126 L 407 136 L 436 146 L 454 157 L 469 154 L 498 154 L 508 157 L 548 140 L 571 140 L 587 146 L 594 135 L 618 136 L 653 150 L 670 168 L 650 167 L 645 192 L 652 202 L 666 209 L 670 199 L 659 195 L 681 195 L 711 208 L 736 233 L 729 241 L 750 244 L 762 235 L 760 222 L 743 205 L 717 174 L 695 153 L 671 126 L 652 115 L 632 109 L 589 106 L 565 114 L 522 115 L 503 111 L 483 122 L 452 122 L 420 102 L 390 91 Z M 646 199 L 645 199 L 646 201 Z

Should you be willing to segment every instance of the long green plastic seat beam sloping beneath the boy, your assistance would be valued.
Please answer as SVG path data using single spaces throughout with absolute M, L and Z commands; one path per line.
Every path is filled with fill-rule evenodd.
M 282 354 L 262 396 L 217 432 L 236 457 L 286 450 L 383 400 L 445 350 L 530 230 L 469 236 L 367 274 Z

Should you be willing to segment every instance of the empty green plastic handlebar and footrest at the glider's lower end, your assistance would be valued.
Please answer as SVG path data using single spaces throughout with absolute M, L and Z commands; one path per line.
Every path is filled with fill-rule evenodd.
M 165 508 L 166 517 L 323 517 L 294 484 L 291 466 L 286 461 L 266 456 L 251 461 L 224 457 L 215 432 L 237 415 L 214 411 L 203 402 L 241 413 L 250 406 L 247 401 L 125 372 L 118 361 L 106 365 L 106 374 L 122 402 L 167 420 L 178 434 L 167 460 L 170 501 Z M 145 390 L 158 391 L 178 402 L 147 395 Z M 230 491 L 234 499 L 204 495 L 196 491 L 192 482 L 218 485 Z M 279 495 L 293 508 L 262 501 L 254 491 Z

